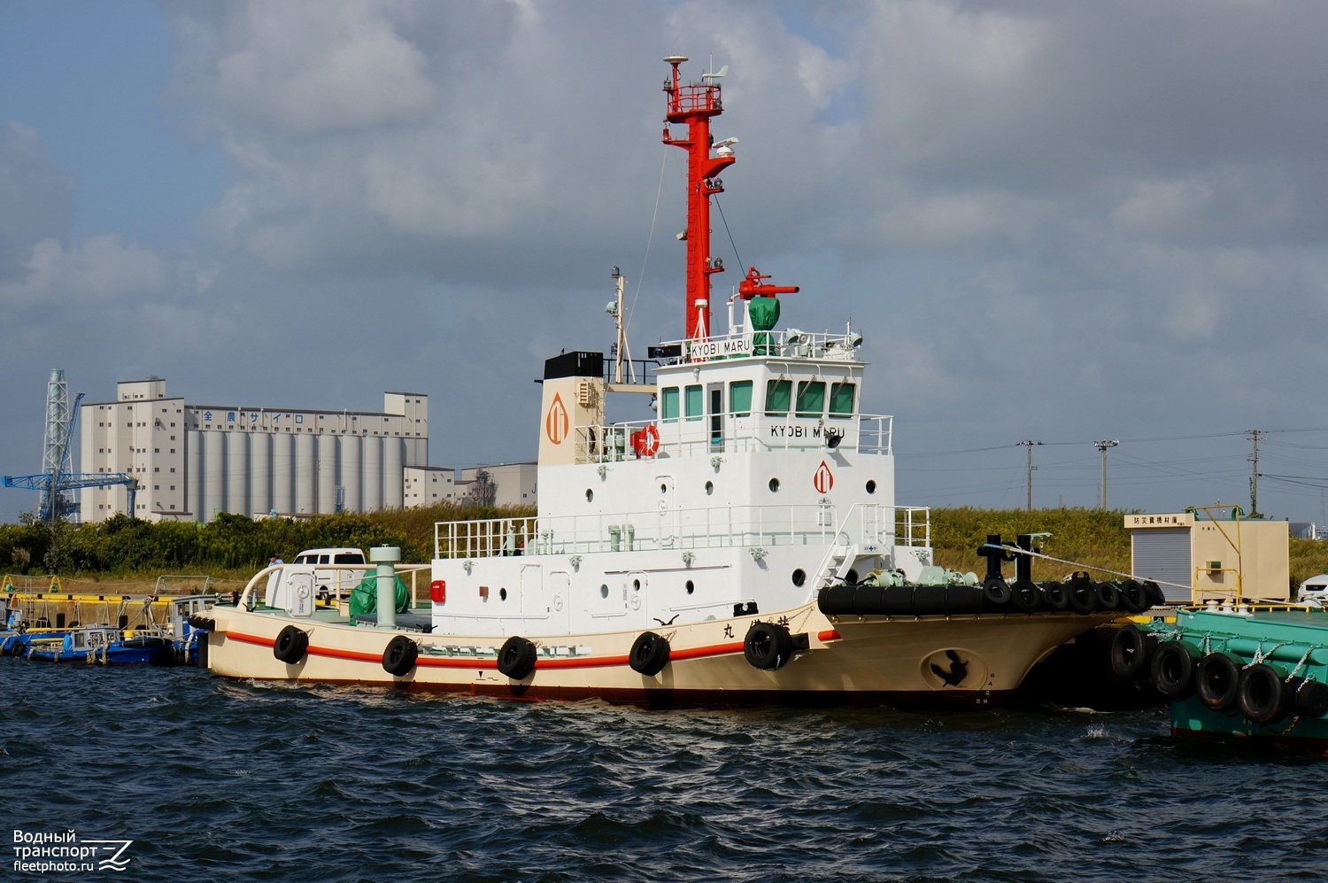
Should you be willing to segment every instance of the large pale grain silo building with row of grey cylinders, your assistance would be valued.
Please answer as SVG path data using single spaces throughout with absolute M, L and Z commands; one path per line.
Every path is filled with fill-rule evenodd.
M 421 393 L 384 393 L 381 412 L 191 405 L 153 377 L 117 384 L 116 401 L 82 405 L 80 420 L 82 471 L 138 478 L 134 515 L 147 521 L 371 511 L 454 493 L 452 470 L 428 466 Z M 125 511 L 124 486 L 80 493 L 85 522 Z

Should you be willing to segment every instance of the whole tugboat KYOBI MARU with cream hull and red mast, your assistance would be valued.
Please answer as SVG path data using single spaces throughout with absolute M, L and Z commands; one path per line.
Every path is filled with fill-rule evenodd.
M 622 325 L 616 360 L 544 362 L 538 515 L 438 523 L 428 615 L 397 613 L 393 548 L 371 550 L 378 608 L 353 621 L 317 607 L 300 574 L 266 568 L 198 621 L 215 675 L 632 704 L 987 706 L 1122 615 L 1121 591 L 1086 578 L 1007 583 L 999 562 L 1024 559 L 999 538 L 983 582 L 932 563 L 928 510 L 895 503 L 894 421 L 861 410 L 862 335 L 776 328 L 780 296 L 798 287 L 752 267 L 728 328 L 712 329 L 710 278 L 725 268 L 710 197 L 736 159 L 736 139 L 710 135 L 726 69 L 685 82 L 687 58 L 664 61 L 663 141 L 688 166 L 684 337 L 652 347 L 652 378 L 624 376 Z M 611 394 L 636 394 L 643 418 L 607 422 Z M 1149 600 L 1131 591 L 1138 612 Z

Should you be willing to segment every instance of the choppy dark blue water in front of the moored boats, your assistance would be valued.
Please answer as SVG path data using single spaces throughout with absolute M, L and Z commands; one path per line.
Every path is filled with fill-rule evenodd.
M 1320 879 L 1328 763 L 1161 710 L 525 704 L 0 660 L 15 879 Z M 131 839 L 15 872 L 13 829 Z

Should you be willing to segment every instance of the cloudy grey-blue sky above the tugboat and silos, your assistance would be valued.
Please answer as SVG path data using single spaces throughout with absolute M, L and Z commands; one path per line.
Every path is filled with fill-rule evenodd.
M 680 53 L 729 65 L 714 252 L 862 328 L 900 502 L 1023 506 L 1035 440 L 1035 506 L 1094 506 L 1120 440 L 1112 507 L 1248 507 L 1258 429 L 1259 509 L 1324 522 L 1325 39 L 1317 0 L 7 0 L 0 473 L 52 368 L 424 392 L 434 465 L 533 458 L 615 264 L 635 353 L 683 333 Z

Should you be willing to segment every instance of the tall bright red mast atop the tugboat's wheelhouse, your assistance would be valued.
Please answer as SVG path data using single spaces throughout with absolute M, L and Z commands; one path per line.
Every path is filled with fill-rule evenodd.
M 724 263 L 710 258 L 710 194 L 722 193 L 714 177 L 733 165 L 733 151 L 720 149 L 710 155 L 710 117 L 724 113 L 720 86 L 706 74 L 700 84 L 683 84 L 677 66 L 685 56 L 665 58 L 673 74 L 664 81 L 668 113 L 664 114 L 664 143 L 687 150 L 687 339 L 708 337 L 710 316 L 710 274 L 724 272 Z M 687 126 L 683 138 L 675 138 L 671 123 Z

